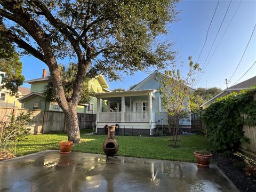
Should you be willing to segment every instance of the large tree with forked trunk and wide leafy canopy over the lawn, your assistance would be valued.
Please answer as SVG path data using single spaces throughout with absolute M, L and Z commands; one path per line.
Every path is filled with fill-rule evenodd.
M 56 100 L 66 115 L 68 139 L 80 141 L 76 106 L 84 77 L 98 74 L 117 79 L 164 67 L 172 60 L 170 44 L 156 37 L 177 20 L 178 0 L 2 0 L 0 31 L 50 69 Z M 157 42 L 157 43 L 155 43 Z M 154 43 L 154 44 L 153 44 Z M 73 93 L 65 97 L 57 59 L 76 58 Z

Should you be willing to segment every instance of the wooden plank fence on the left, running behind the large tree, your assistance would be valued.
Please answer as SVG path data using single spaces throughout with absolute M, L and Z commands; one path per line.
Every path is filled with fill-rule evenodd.
M 0 108 L 0 121 L 9 121 L 10 116 L 18 116 L 28 109 L 20 108 Z M 55 131 L 66 131 L 65 114 L 62 111 L 31 110 L 33 123 L 29 125 L 30 134 L 43 134 Z M 95 114 L 77 113 L 79 129 L 93 128 L 96 121 Z

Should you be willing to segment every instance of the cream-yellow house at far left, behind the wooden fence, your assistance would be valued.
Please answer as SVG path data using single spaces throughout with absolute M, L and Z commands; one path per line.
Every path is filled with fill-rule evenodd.
M 18 92 L 15 95 L 10 95 L 10 91 L 7 89 L 2 89 L 0 91 L 0 107 L 14 107 L 21 108 L 21 102 L 19 98 L 28 94 L 30 90 L 26 87 L 19 87 Z

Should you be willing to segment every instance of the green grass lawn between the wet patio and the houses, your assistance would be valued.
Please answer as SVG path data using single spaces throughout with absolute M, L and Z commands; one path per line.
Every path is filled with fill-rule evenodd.
M 85 135 L 81 132 L 82 142 L 73 146 L 73 151 L 103 154 L 102 143 L 106 135 Z M 180 148 L 169 147 L 172 137 L 132 137 L 116 136 L 119 143 L 117 155 L 141 158 L 166 159 L 173 161 L 195 162 L 195 150 L 209 149 L 207 138 L 201 135 L 181 135 Z M 17 142 L 17 156 L 35 153 L 46 149 L 59 149 L 59 141 L 67 140 L 64 133 L 29 135 Z

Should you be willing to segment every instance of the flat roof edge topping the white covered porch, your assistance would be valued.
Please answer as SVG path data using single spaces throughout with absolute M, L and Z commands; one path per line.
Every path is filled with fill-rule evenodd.
M 154 89 L 117 91 L 117 92 L 107 92 L 107 93 L 92 93 L 92 96 L 97 97 L 97 98 L 131 97 L 131 96 L 148 95 L 148 93 L 155 93 L 157 91 L 158 90 L 154 90 Z

